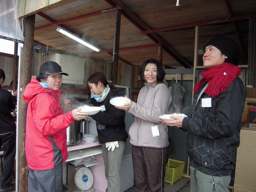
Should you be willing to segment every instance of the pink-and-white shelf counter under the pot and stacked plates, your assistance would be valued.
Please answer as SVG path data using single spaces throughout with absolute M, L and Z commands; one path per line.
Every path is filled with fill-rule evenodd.
M 89 169 L 92 170 L 93 178 L 94 178 L 94 183 L 92 188 L 94 188 L 96 192 L 105 191 L 108 186 L 108 183 L 105 177 L 105 167 L 104 167 L 104 161 L 102 156 L 101 144 L 98 142 L 98 140 L 92 143 L 87 143 L 81 140 L 79 144 L 68 146 L 68 153 L 71 154 L 70 153 L 71 151 L 72 151 L 72 155 L 68 156 L 65 164 L 63 165 L 63 177 L 64 177 L 63 183 L 66 185 L 68 184 L 68 171 L 67 171 L 68 161 L 80 159 L 87 156 L 94 156 L 94 158 L 100 161 L 102 164 L 88 167 Z M 77 154 L 83 154 L 83 156 L 76 155 L 76 152 Z

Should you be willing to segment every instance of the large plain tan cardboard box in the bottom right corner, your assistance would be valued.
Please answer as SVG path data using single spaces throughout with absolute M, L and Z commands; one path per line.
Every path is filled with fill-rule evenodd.
M 234 192 L 255 192 L 256 130 L 241 129 L 240 145 L 236 151 Z

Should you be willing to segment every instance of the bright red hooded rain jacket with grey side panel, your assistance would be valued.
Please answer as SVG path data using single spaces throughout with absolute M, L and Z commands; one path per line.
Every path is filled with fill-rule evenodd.
M 63 115 L 60 91 L 42 87 L 32 77 L 23 99 L 28 102 L 25 151 L 28 167 L 33 170 L 52 169 L 68 157 L 66 129 L 74 117 Z

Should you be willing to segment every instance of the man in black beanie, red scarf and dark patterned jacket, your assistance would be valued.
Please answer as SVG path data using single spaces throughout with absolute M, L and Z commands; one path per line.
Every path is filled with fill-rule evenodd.
M 190 191 L 228 192 L 246 99 L 238 77 L 238 45 L 229 37 L 214 37 L 204 46 L 203 61 L 206 70 L 194 88 L 191 115 L 160 121 L 187 131 Z

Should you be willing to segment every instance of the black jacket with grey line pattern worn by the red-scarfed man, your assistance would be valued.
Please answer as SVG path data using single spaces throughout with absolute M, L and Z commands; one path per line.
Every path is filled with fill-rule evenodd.
M 205 84 L 194 96 L 190 117 L 182 122 L 187 131 L 189 165 L 208 175 L 227 176 L 235 168 L 246 91 L 236 77 L 225 92 L 212 98 L 212 107 L 201 107 L 201 99 L 196 100 Z M 203 93 L 201 98 L 210 96 Z

